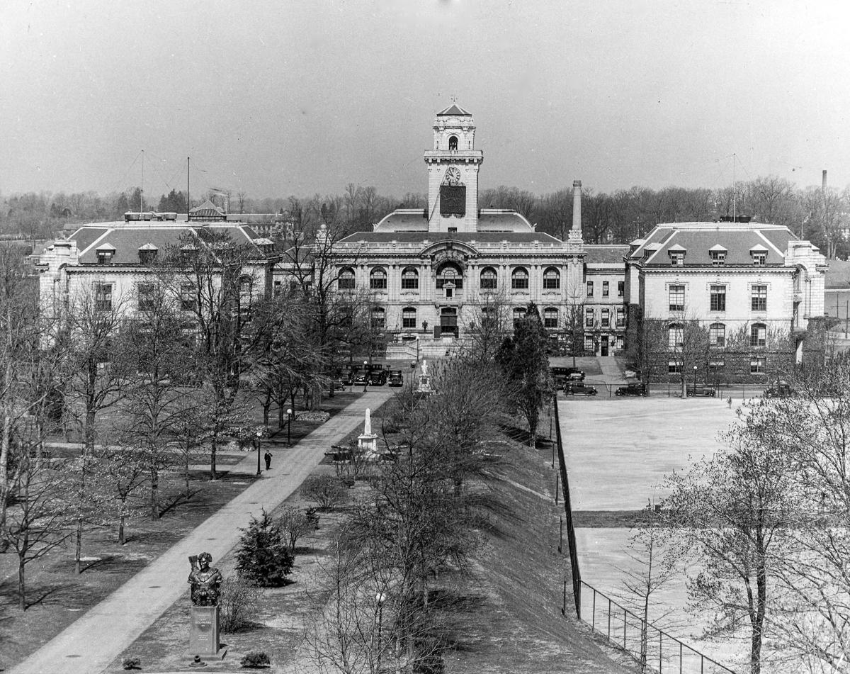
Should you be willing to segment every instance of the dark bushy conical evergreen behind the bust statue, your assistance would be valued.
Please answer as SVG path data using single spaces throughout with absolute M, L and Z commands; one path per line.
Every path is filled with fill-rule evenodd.
M 263 509 L 262 516 L 251 518 L 239 540 L 236 571 L 247 582 L 260 587 L 286 585 L 295 561 L 280 531 L 280 523 Z

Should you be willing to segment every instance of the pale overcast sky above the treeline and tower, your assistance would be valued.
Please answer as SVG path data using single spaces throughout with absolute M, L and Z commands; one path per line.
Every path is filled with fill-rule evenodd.
M 0 6 L 0 193 L 850 183 L 847 0 L 103 0 Z

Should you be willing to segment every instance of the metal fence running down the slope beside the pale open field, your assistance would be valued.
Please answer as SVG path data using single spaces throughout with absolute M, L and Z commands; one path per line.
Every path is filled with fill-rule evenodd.
M 736 674 L 717 660 L 712 660 L 696 648 L 690 647 L 680 639 L 673 637 L 651 623 L 645 623 L 638 614 L 632 613 L 611 597 L 598 591 L 589 583 L 581 580 L 578 561 L 578 547 L 575 540 L 575 525 L 570 504 L 570 476 L 564 458 L 564 443 L 561 438 L 561 423 L 558 419 L 558 399 L 553 400 L 556 443 L 558 448 L 558 481 L 564 488 L 564 522 L 567 525 L 567 545 L 570 551 L 570 572 L 572 574 L 575 615 L 591 626 L 592 631 L 603 634 L 612 646 L 621 648 L 632 658 L 641 662 L 645 659 L 647 669 L 678 674 Z M 555 500 L 558 501 L 556 483 Z M 587 591 L 582 591 L 587 589 Z M 566 613 L 567 582 L 564 581 L 564 604 L 561 611 Z M 644 637 L 645 633 L 645 637 Z M 645 639 L 645 645 L 644 645 Z

